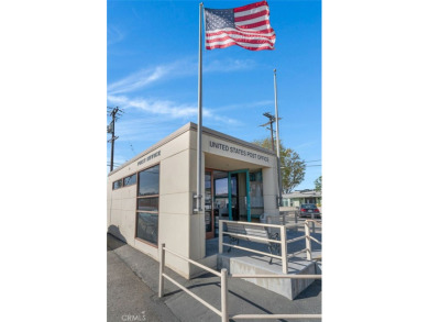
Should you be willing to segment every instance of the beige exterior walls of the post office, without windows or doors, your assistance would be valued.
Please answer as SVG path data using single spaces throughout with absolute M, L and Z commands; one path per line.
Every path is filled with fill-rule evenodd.
M 231 151 L 215 148 L 210 146 L 210 141 L 232 148 L 241 148 L 245 153 L 237 154 Z M 277 195 L 276 181 L 273 184 L 273 178 L 276 178 L 276 158 L 273 154 L 263 149 L 255 149 L 245 142 L 211 130 L 205 130 L 201 145 L 202 178 L 206 158 L 212 156 L 222 157 L 222 160 L 226 162 L 222 166 L 231 164 L 237 169 L 262 168 L 264 211 L 266 213 L 278 212 L 275 199 Z M 196 147 L 196 126 L 195 124 L 187 124 L 138 155 L 108 177 L 108 226 L 117 227 L 117 233 L 120 234 L 119 237 L 122 236 L 128 244 L 155 259 L 158 259 L 158 248 L 134 238 L 136 185 L 112 191 L 112 182 L 160 164 L 158 245 L 165 243 L 167 248 L 183 256 L 195 260 L 202 259 L 206 256 L 205 215 L 204 212 L 193 213 L 193 193 L 197 191 Z M 139 162 L 158 151 L 161 151 L 160 156 L 139 165 Z M 202 198 L 202 200 L 205 199 Z M 114 230 L 112 233 L 114 234 Z M 198 271 L 195 266 L 168 253 L 166 253 L 166 265 L 186 278 Z

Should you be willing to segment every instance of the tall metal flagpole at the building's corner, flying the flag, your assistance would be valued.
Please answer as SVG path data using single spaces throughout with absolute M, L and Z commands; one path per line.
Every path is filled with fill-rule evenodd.
M 199 53 L 198 53 L 198 134 L 197 134 L 197 208 L 195 212 L 202 211 L 201 208 L 201 131 L 202 130 L 202 2 L 199 3 Z

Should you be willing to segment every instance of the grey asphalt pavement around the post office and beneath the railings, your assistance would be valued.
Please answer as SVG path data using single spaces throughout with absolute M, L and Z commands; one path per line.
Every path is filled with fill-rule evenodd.
M 122 266 L 127 266 L 127 269 Z M 158 299 L 158 270 L 156 260 L 108 234 L 108 321 L 220 321 L 217 314 L 168 280 L 165 280 L 165 296 Z M 220 310 L 218 277 L 207 274 L 187 280 L 168 268 L 165 273 Z M 315 281 L 294 301 L 242 279 L 230 278 L 228 289 L 229 314 L 321 313 L 320 280 Z M 145 317 L 142 315 L 142 311 L 145 312 Z M 136 315 L 141 320 L 123 320 L 127 319 L 123 314 Z M 320 321 L 320 319 L 290 321 Z

